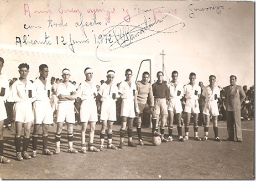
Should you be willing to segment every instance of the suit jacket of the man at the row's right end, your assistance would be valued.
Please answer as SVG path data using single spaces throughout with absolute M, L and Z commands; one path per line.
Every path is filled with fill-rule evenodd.
M 241 111 L 241 104 L 245 99 L 245 93 L 243 87 L 240 85 L 234 85 L 232 88 L 230 85 L 225 87 L 226 95 L 226 110 L 227 111 Z

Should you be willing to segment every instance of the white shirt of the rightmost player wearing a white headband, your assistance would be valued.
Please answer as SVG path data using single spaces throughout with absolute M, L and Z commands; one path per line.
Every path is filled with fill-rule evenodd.
M 119 97 L 118 88 L 114 84 L 103 83 L 98 90 L 98 94 L 101 95 L 101 101 L 111 101 Z

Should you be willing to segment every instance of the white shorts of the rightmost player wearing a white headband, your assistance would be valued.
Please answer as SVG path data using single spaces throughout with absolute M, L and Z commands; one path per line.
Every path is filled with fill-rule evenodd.
M 116 101 L 102 101 L 101 120 L 117 120 Z

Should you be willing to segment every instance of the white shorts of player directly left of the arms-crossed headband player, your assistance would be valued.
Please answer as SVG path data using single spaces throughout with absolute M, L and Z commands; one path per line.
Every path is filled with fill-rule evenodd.
M 34 124 L 53 124 L 53 109 L 49 101 L 33 103 Z

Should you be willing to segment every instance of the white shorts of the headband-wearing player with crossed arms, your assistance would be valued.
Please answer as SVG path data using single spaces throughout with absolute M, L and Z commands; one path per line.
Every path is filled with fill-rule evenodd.
M 74 102 L 64 101 L 60 102 L 57 110 L 57 123 L 63 123 L 66 119 L 67 123 L 75 124 L 75 110 Z

